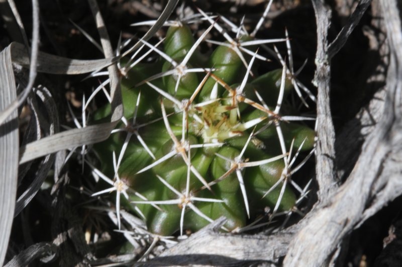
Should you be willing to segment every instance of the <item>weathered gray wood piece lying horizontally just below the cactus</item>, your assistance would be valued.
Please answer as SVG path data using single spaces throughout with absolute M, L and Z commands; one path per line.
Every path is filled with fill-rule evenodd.
M 216 220 L 188 239 L 164 251 L 149 265 L 225 265 L 241 263 L 277 262 L 287 251 L 293 228 L 280 234 L 233 235 L 220 233 L 224 218 Z

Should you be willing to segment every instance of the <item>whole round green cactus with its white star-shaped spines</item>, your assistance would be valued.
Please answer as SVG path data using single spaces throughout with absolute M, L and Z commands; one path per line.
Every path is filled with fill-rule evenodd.
M 178 23 L 167 30 L 163 49 L 143 42 L 159 60 L 124 69 L 125 118 L 94 146 L 102 172 L 94 170 L 112 187 L 93 195 L 117 192 L 119 228 L 120 205 L 160 235 L 196 231 L 220 216 L 227 219 L 223 228 L 234 230 L 266 206 L 280 211 L 295 205 L 286 184 L 291 157 L 312 149 L 314 131 L 281 112 L 295 84 L 292 70 L 284 65 L 259 75 L 253 64 L 265 58 L 255 47 L 271 40 L 247 35 L 234 40 L 225 33 L 227 43 L 200 53 L 213 28 L 223 32 L 204 16 L 211 26 L 197 40 Z M 240 51 L 247 45 L 256 52 Z M 106 105 L 92 120 L 109 113 Z

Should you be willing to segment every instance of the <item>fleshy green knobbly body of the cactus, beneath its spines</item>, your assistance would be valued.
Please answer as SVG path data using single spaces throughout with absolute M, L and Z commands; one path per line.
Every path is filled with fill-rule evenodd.
M 249 39 L 247 37 L 247 40 Z M 187 26 L 170 27 L 164 43 L 164 52 L 180 64 L 193 44 L 194 39 Z M 184 72 L 150 81 L 152 85 L 175 98 L 177 101 L 173 101 L 174 103 L 146 83 L 135 87 L 136 84 L 158 72 L 176 68 L 164 60 L 134 67 L 128 73 L 128 79 L 122 82 L 126 118 L 133 116 L 140 91 L 137 124 L 146 124 L 161 118 L 165 109 L 169 114 L 164 120 L 137 129 L 137 133 L 142 136 L 155 159 L 135 137 L 132 137 L 118 170 L 120 178 L 141 195 L 128 192 L 129 200 L 134 203 L 124 201 L 125 207 L 142 213 L 139 215 L 145 217 L 149 229 L 162 235 L 176 232 L 180 229 L 181 223 L 185 229 L 196 231 L 220 216 L 227 218 L 224 226 L 229 230 L 243 227 L 248 215 L 253 217 L 265 206 L 275 206 L 281 190 L 281 186 L 278 186 L 263 197 L 282 175 L 284 168 L 282 158 L 255 166 L 248 163 L 281 154 L 275 122 L 272 123 L 277 118 L 270 117 L 261 105 L 253 106 L 250 103 L 258 102 L 254 94 L 256 90 L 268 105 L 276 105 L 282 71 L 276 70 L 258 76 L 237 96 L 236 90 L 240 84 L 228 89 L 227 85 L 217 86 L 217 79 L 229 85 L 241 83 L 243 77 L 248 74 L 238 55 L 229 47 L 218 46 L 208 60 L 204 58 L 204 55 L 196 51 L 189 64 L 185 66 L 186 69 L 193 67 L 216 69 L 206 78 L 204 85 L 201 84 L 202 89 L 188 105 L 185 104 L 206 73 L 185 73 L 185 69 L 181 69 Z M 180 81 L 177 86 L 178 79 Z M 290 82 L 286 80 L 284 97 L 289 94 L 291 88 Z M 161 101 L 163 101 L 162 109 Z M 94 119 L 105 118 L 109 112 L 108 106 L 99 109 Z M 265 127 L 270 121 L 271 125 Z M 171 128 L 171 133 L 166 123 Z M 183 123 L 186 124 L 184 131 Z M 283 136 L 288 148 L 293 138 L 295 138 L 293 142 L 295 149 L 303 141 L 305 141 L 303 150 L 313 147 L 312 129 L 297 123 L 282 121 L 278 123 L 283 126 Z M 254 126 L 257 134 L 249 139 Z M 98 154 L 102 155 L 100 161 L 105 173 L 113 174 L 111 154 L 113 151 L 119 152 L 125 138 L 125 132 L 113 134 L 107 141 L 95 146 Z M 203 144 L 219 145 L 203 147 Z M 171 156 L 159 162 L 166 155 Z M 155 165 L 147 168 L 149 164 Z M 239 176 L 242 177 L 242 182 Z M 180 199 L 182 202 L 179 202 Z M 217 201 L 209 202 L 205 199 Z M 295 199 L 292 189 L 286 187 L 279 203 L 279 210 L 292 208 Z M 158 208 L 150 203 L 157 205 Z M 137 210 L 134 209 L 135 206 Z

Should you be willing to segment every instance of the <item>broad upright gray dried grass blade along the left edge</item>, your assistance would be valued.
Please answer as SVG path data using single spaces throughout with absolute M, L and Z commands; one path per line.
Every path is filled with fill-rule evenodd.
M 16 101 L 11 47 L 0 53 L 0 109 Z M 14 206 L 17 193 L 18 175 L 18 113 L 11 112 L 6 123 L 0 125 L 0 266 L 6 256 Z

